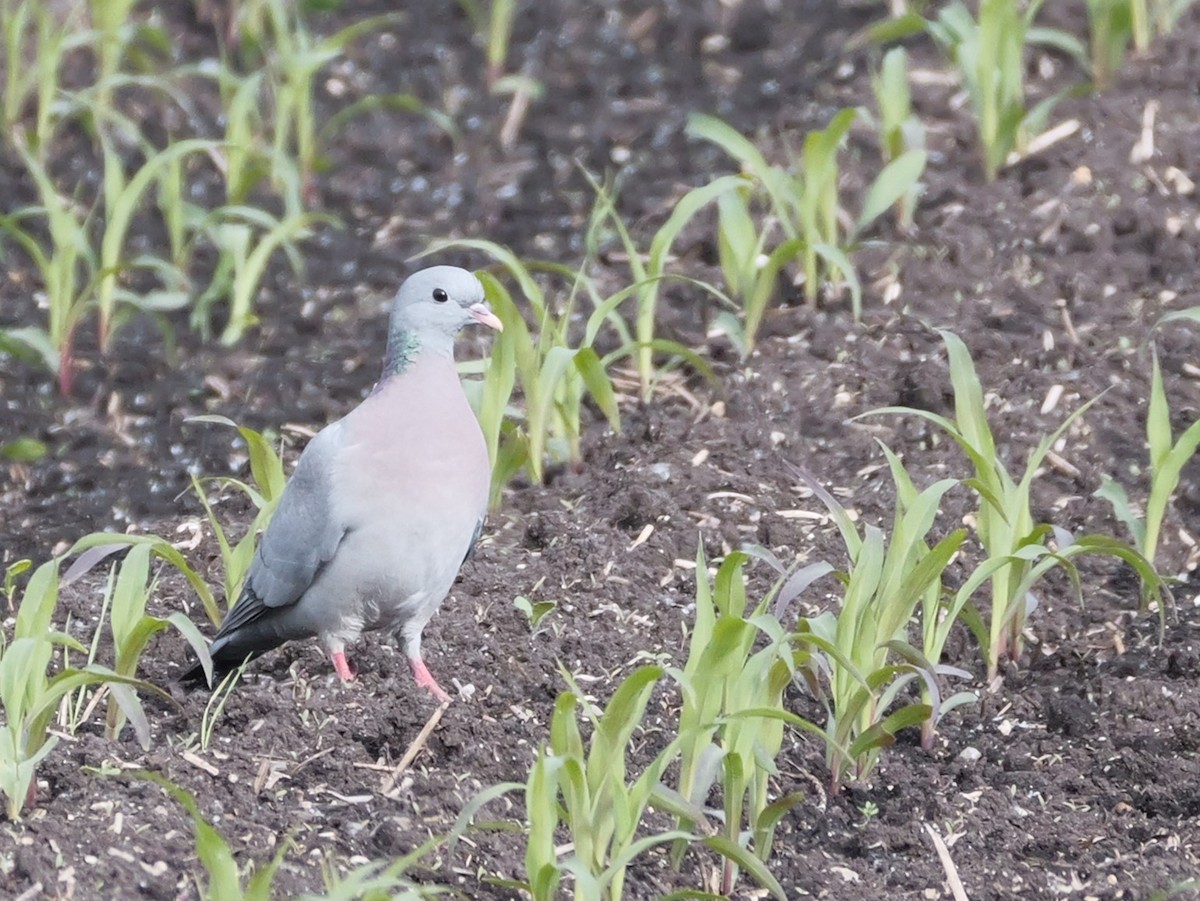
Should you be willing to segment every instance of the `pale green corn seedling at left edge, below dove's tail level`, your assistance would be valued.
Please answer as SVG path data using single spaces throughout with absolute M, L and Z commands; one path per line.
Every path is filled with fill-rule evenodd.
M 89 663 L 64 667 L 49 674 L 56 648 L 86 654 L 78 641 L 52 630 L 59 599 L 59 563 L 42 564 L 25 585 L 12 639 L 0 636 L 0 793 L 6 798 L 8 819 L 20 818 L 32 798 L 37 765 L 58 744 L 48 729 L 64 697 L 88 685 L 106 685 L 133 723 L 143 747 L 150 745 L 150 723 L 137 691 L 170 697 L 148 683 Z

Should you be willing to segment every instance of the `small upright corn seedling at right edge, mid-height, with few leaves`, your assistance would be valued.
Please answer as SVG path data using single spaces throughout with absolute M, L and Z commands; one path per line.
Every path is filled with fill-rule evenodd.
M 1151 564 L 1158 555 L 1158 537 L 1166 516 L 1166 505 L 1178 487 L 1183 467 L 1200 448 L 1200 420 L 1196 420 L 1176 440 L 1171 433 L 1171 410 L 1163 386 L 1163 371 L 1158 354 L 1153 356 L 1153 373 L 1150 382 L 1150 404 L 1146 410 L 1146 443 L 1150 446 L 1150 495 L 1145 512 L 1139 516 L 1129 503 L 1124 487 L 1104 476 L 1096 495 L 1112 505 L 1117 518 L 1133 536 L 1134 547 Z

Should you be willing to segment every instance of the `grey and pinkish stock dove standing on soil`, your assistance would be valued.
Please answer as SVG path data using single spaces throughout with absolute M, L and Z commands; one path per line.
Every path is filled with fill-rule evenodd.
M 454 362 L 455 336 L 472 323 L 503 330 L 470 272 L 433 266 L 401 286 L 383 376 L 300 455 L 212 641 L 216 673 L 317 636 L 344 681 L 347 645 L 388 629 L 403 639 L 416 684 L 449 699 L 421 659 L 421 631 L 487 510 L 487 449 Z M 203 671 L 185 679 L 202 681 Z

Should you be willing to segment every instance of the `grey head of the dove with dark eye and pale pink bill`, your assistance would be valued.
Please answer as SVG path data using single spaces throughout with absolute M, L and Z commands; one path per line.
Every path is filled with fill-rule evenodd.
M 452 355 L 455 335 L 472 323 L 504 329 L 475 276 L 457 266 L 413 272 L 392 302 L 384 378 L 403 372 L 420 353 Z

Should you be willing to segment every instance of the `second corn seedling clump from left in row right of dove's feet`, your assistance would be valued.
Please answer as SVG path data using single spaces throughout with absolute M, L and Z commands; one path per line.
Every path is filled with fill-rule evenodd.
M 676 794 L 688 805 L 685 810 L 702 810 L 713 786 L 721 786 L 724 825 L 715 837 L 725 849 L 724 895 L 733 891 L 738 871 L 737 855 L 727 852 L 737 848 L 746 853 L 749 842 L 754 858 L 764 867 L 776 824 L 803 799 L 798 793 L 775 800 L 769 797 L 785 725 L 823 734 L 818 726 L 784 708 L 797 653 L 778 617 L 767 612 L 782 582 L 755 607 L 748 607 L 743 566 L 749 559 L 743 553 L 730 554 L 710 582 L 703 546 L 697 548 L 696 614 L 688 661 L 683 669 L 667 671 L 683 695 Z M 700 824 L 684 812 L 677 825 L 694 831 Z M 686 840 L 674 843 L 676 866 L 688 847 Z M 763 882 L 762 869 L 756 876 L 769 884 Z

